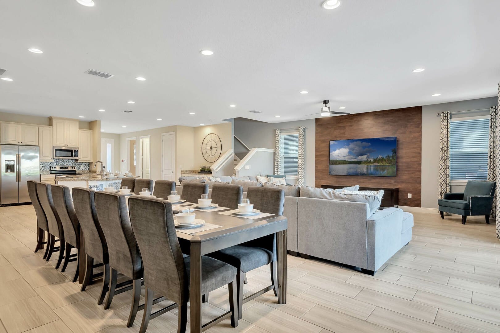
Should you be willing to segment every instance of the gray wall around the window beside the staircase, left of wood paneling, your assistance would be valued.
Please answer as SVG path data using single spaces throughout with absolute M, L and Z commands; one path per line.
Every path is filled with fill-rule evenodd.
M 234 118 L 234 135 L 240 138 L 250 149 L 274 149 L 276 128 L 296 128 L 299 126 L 305 126 L 305 185 L 314 186 L 315 119 L 271 124 L 246 118 Z M 237 151 L 238 148 L 240 147 L 235 145 L 236 155 L 240 152 Z

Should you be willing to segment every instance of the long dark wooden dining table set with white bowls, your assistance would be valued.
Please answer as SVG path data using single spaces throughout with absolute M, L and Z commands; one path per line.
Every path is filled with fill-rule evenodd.
M 187 206 L 186 206 L 187 207 Z M 229 210 L 229 208 L 227 209 Z M 222 210 L 223 211 L 223 210 Z M 276 257 L 278 276 L 278 304 L 286 303 L 286 230 L 287 219 L 284 216 L 267 216 L 249 219 L 217 212 L 195 210 L 196 219 L 220 227 L 193 234 L 186 234 L 177 229 L 177 238 L 182 252 L 189 254 L 190 259 L 190 332 L 200 333 L 210 326 L 202 328 L 201 323 L 201 256 L 238 245 L 266 235 L 276 234 Z M 192 229 L 191 229 L 192 231 Z M 85 242 L 80 236 L 80 256 L 84 256 Z M 83 258 L 83 257 L 81 257 Z M 85 272 L 86 260 L 80 260 L 80 272 Z M 82 274 L 79 283 L 83 282 Z

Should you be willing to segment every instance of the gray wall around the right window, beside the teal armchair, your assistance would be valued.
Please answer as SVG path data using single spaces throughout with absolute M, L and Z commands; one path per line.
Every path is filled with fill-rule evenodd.
M 488 97 L 422 106 L 422 207 L 437 208 L 440 118 L 436 117 L 436 113 L 442 111 L 453 112 L 485 109 L 495 106 L 496 103 L 497 97 Z M 479 115 L 483 112 L 466 115 L 463 113 L 455 114 L 454 116 L 452 115 L 452 118 Z M 463 191 L 462 187 L 458 186 L 453 186 L 451 190 L 457 192 Z

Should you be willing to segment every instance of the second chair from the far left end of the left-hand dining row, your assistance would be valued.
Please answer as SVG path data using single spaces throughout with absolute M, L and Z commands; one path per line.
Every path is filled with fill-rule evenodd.
M 62 229 L 62 223 L 59 220 L 57 211 L 55 210 L 54 202 L 52 200 L 52 191 L 50 191 L 50 184 L 47 183 L 36 183 L 36 193 L 38 194 L 38 199 L 40 200 L 41 208 L 47 218 L 48 224 L 48 236 L 47 236 L 47 255 L 45 257 L 46 261 L 50 260 L 52 253 L 59 251 L 59 256 L 57 258 L 57 264 L 55 268 L 59 268 L 62 258 L 64 257 L 64 231 Z M 55 246 L 55 237 L 59 239 L 59 246 Z

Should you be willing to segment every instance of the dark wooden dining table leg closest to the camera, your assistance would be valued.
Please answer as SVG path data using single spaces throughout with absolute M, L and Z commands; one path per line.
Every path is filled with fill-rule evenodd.
M 191 242 L 190 333 L 201 333 L 201 243 Z

